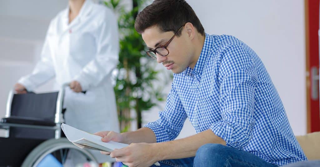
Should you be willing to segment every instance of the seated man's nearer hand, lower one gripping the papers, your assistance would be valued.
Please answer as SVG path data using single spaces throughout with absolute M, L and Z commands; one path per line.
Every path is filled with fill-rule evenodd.
M 115 149 L 110 157 L 129 167 L 145 167 L 156 163 L 158 152 L 155 143 L 131 143 L 128 147 Z

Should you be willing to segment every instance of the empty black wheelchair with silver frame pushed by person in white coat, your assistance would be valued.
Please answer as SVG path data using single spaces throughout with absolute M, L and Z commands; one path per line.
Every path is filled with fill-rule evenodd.
M 67 86 L 52 93 L 9 92 L 0 123 L 0 129 L 5 129 L 5 136 L 0 137 L 0 167 L 65 166 L 71 150 L 88 163 L 98 163 L 89 151 L 78 148 L 61 133 Z

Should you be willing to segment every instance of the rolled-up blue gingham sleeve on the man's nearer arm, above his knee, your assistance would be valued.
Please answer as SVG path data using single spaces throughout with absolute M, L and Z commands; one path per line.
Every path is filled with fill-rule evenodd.
M 242 149 L 251 139 L 254 126 L 254 94 L 257 85 L 255 64 L 249 56 L 250 51 L 240 44 L 226 46 L 220 54 L 222 119 L 210 129 L 225 140 L 227 146 Z

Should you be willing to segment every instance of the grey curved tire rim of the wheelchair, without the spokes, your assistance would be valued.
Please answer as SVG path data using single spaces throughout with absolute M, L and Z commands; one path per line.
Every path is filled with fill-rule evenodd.
M 60 138 L 46 140 L 43 143 L 39 144 L 28 154 L 21 167 L 36 167 L 45 156 L 61 149 L 76 149 L 88 160 L 98 163 L 94 156 L 86 149 L 78 148 L 67 138 Z

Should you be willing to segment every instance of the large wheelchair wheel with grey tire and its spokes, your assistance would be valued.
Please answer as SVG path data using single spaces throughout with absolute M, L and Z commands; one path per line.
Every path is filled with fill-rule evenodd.
M 83 156 L 82 159 L 86 159 L 87 162 L 97 163 L 97 160 L 89 151 L 78 148 L 67 138 L 60 138 L 46 140 L 38 145 L 28 154 L 21 167 L 37 167 L 46 156 L 55 157 L 55 160 L 59 161 L 61 165 L 64 166 L 67 159 L 67 154 L 71 150 L 73 152 L 76 151 L 78 155 Z

